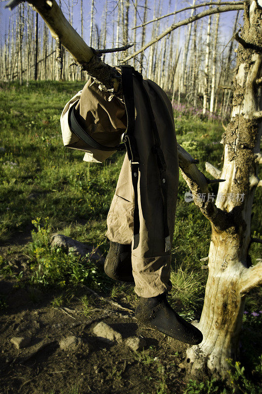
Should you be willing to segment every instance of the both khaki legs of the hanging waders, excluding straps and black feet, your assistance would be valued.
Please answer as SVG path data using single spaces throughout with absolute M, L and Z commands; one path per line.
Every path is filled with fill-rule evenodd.
M 169 281 L 171 254 L 170 251 L 164 251 L 164 207 L 160 174 L 152 152 L 154 139 L 149 126 L 150 119 L 145 103 L 141 98 L 139 84 L 135 79 L 133 83 L 136 107 L 134 136 L 140 156 L 138 179 L 140 238 L 138 247 L 132 249 L 131 261 L 135 293 L 142 297 L 153 297 L 171 290 Z M 164 92 L 154 82 L 144 81 L 144 86 L 148 91 L 154 109 L 161 147 L 167 165 L 167 217 L 172 242 L 178 188 L 177 145 L 172 108 Z M 161 94 L 163 97 L 160 98 Z M 132 243 L 133 197 L 131 167 L 126 155 L 107 217 L 108 230 L 106 235 L 110 241 L 122 244 Z

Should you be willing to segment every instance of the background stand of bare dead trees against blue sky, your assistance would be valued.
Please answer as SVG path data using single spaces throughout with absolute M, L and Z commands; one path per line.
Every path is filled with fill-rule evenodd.
M 101 53 L 102 60 L 109 65 L 120 64 L 170 24 L 193 17 L 199 10 L 210 9 L 210 5 L 203 4 L 210 3 L 197 4 L 194 0 L 192 6 L 196 8 L 192 8 L 171 0 L 155 0 L 154 4 L 148 0 L 104 0 L 96 4 L 92 0 L 85 8 L 87 4 L 83 5 L 83 0 L 59 2 L 69 23 L 90 47 L 103 52 L 105 48 L 132 44 L 126 51 Z M 213 7 L 220 4 L 215 2 Z M 225 118 L 229 115 L 236 57 L 233 37 L 241 15 L 239 9 L 231 12 L 226 20 L 222 20 L 223 14 L 217 13 L 182 25 L 128 63 L 159 84 L 178 105 L 186 101 L 203 115 L 217 114 Z M 226 26 L 229 18 L 230 26 Z M 6 18 L 5 26 L 2 23 L 1 30 L 2 81 L 18 80 L 22 84 L 33 79 L 87 79 L 87 74 L 74 64 L 59 40 L 52 39 L 47 26 L 28 3 L 19 4 L 9 19 Z

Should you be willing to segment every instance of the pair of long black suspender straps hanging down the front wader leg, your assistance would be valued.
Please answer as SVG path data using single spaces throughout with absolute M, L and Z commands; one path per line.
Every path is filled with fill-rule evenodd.
M 131 162 L 131 171 L 132 171 L 132 183 L 133 183 L 133 188 L 134 188 L 134 197 L 135 197 L 135 208 L 134 208 L 134 247 L 138 246 L 139 242 L 139 214 L 138 214 L 138 204 L 136 204 L 136 198 L 137 198 L 137 180 L 138 180 L 138 172 L 136 175 L 136 168 L 138 169 L 138 164 L 139 164 L 139 155 L 138 155 L 138 150 L 137 150 L 137 145 L 135 142 L 134 138 L 130 138 L 130 134 L 133 133 L 134 131 L 134 98 L 131 97 L 133 95 L 133 78 L 132 74 L 135 75 L 140 83 L 143 96 L 145 99 L 145 103 L 147 106 L 147 109 L 149 111 L 149 118 L 151 122 L 151 127 L 153 129 L 154 133 L 154 139 L 155 139 L 155 145 L 152 148 L 153 153 L 156 156 L 157 160 L 157 165 L 159 169 L 159 175 L 160 175 L 160 184 L 161 184 L 161 191 L 162 191 L 162 197 L 163 197 L 163 207 L 164 207 L 164 240 L 165 240 L 165 252 L 168 252 L 171 250 L 171 243 L 170 243 L 170 235 L 169 235 L 169 229 L 168 229 L 168 222 L 167 222 L 167 176 L 166 176 L 166 164 L 164 160 L 164 154 L 160 146 L 160 137 L 159 137 L 159 132 L 156 124 L 156 119 L 154 116 L 154 111 L 151 106 L 151 102 L 148 96 L 148 93 L 146 89 L 144 88 L 143 85 L 143 77 L 142 75 L 136 71 L 132 66 L 121 66 L 121 71 L 122 71 L 122 89 L 124 93 L 124 101 L 126 105 L 126 110 L 127 110 L 127 118 L 128 118 L 128 127 L 126 131 L 126 136 L 128 136 L 128 144 L 125 141 L 125 137 L 123 141 L 126 144 L 127 147 L 127 152 L 128 152 L 128 157 Z M 130 125 L 130 127 L 129 127 Z M 130 140 L 132 143 L 130 143 Z M 131 154 L 129 154 L 129 147 L 131 147 Z M 133 147 L 133 149 L 132 149 Z M 134 162 L 135 160 L 135 162 Z M 136 163 L 136 160 L 138 163 Z M 135 165 L 135 167 L 133 167 Z M 135 177 L 135 178 L 134 178 Z M 135 212 L 137 211 L 137 214 L 135 215 Z M 138 233 L 137 233 L 138 231 Z M 138 242 L 136 242 L 138 240 Z

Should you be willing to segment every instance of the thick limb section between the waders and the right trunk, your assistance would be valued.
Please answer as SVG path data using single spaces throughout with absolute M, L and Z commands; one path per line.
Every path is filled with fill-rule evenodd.
M 232 218 L 228 212 L 219 209 L 213 202 L 214 197 L 209 193 L 207 185 L 210 180 L 196 166 L 196 160 L 178 145 L 178 161 L 181 173 L 190 188 L 193 200 L 202 214 L 218 229 L 227 230 L 232 226 Z M 223 181 L 223 180 L 215 180 Z M 205 195 L 207 198 L 202 198 Z M 209 199 L 210 197 L 210 199 Z

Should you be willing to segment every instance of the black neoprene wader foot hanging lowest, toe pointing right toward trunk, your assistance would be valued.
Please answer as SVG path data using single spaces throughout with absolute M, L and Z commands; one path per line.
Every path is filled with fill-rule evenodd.
M 146 326 L 156 328 L 179 341 L 197 345 L 203 335 L 199 329 L 186 322 L 168 304 L 166 293 L 156 297 L 140 297 L 135 309 L 135 317 Z

